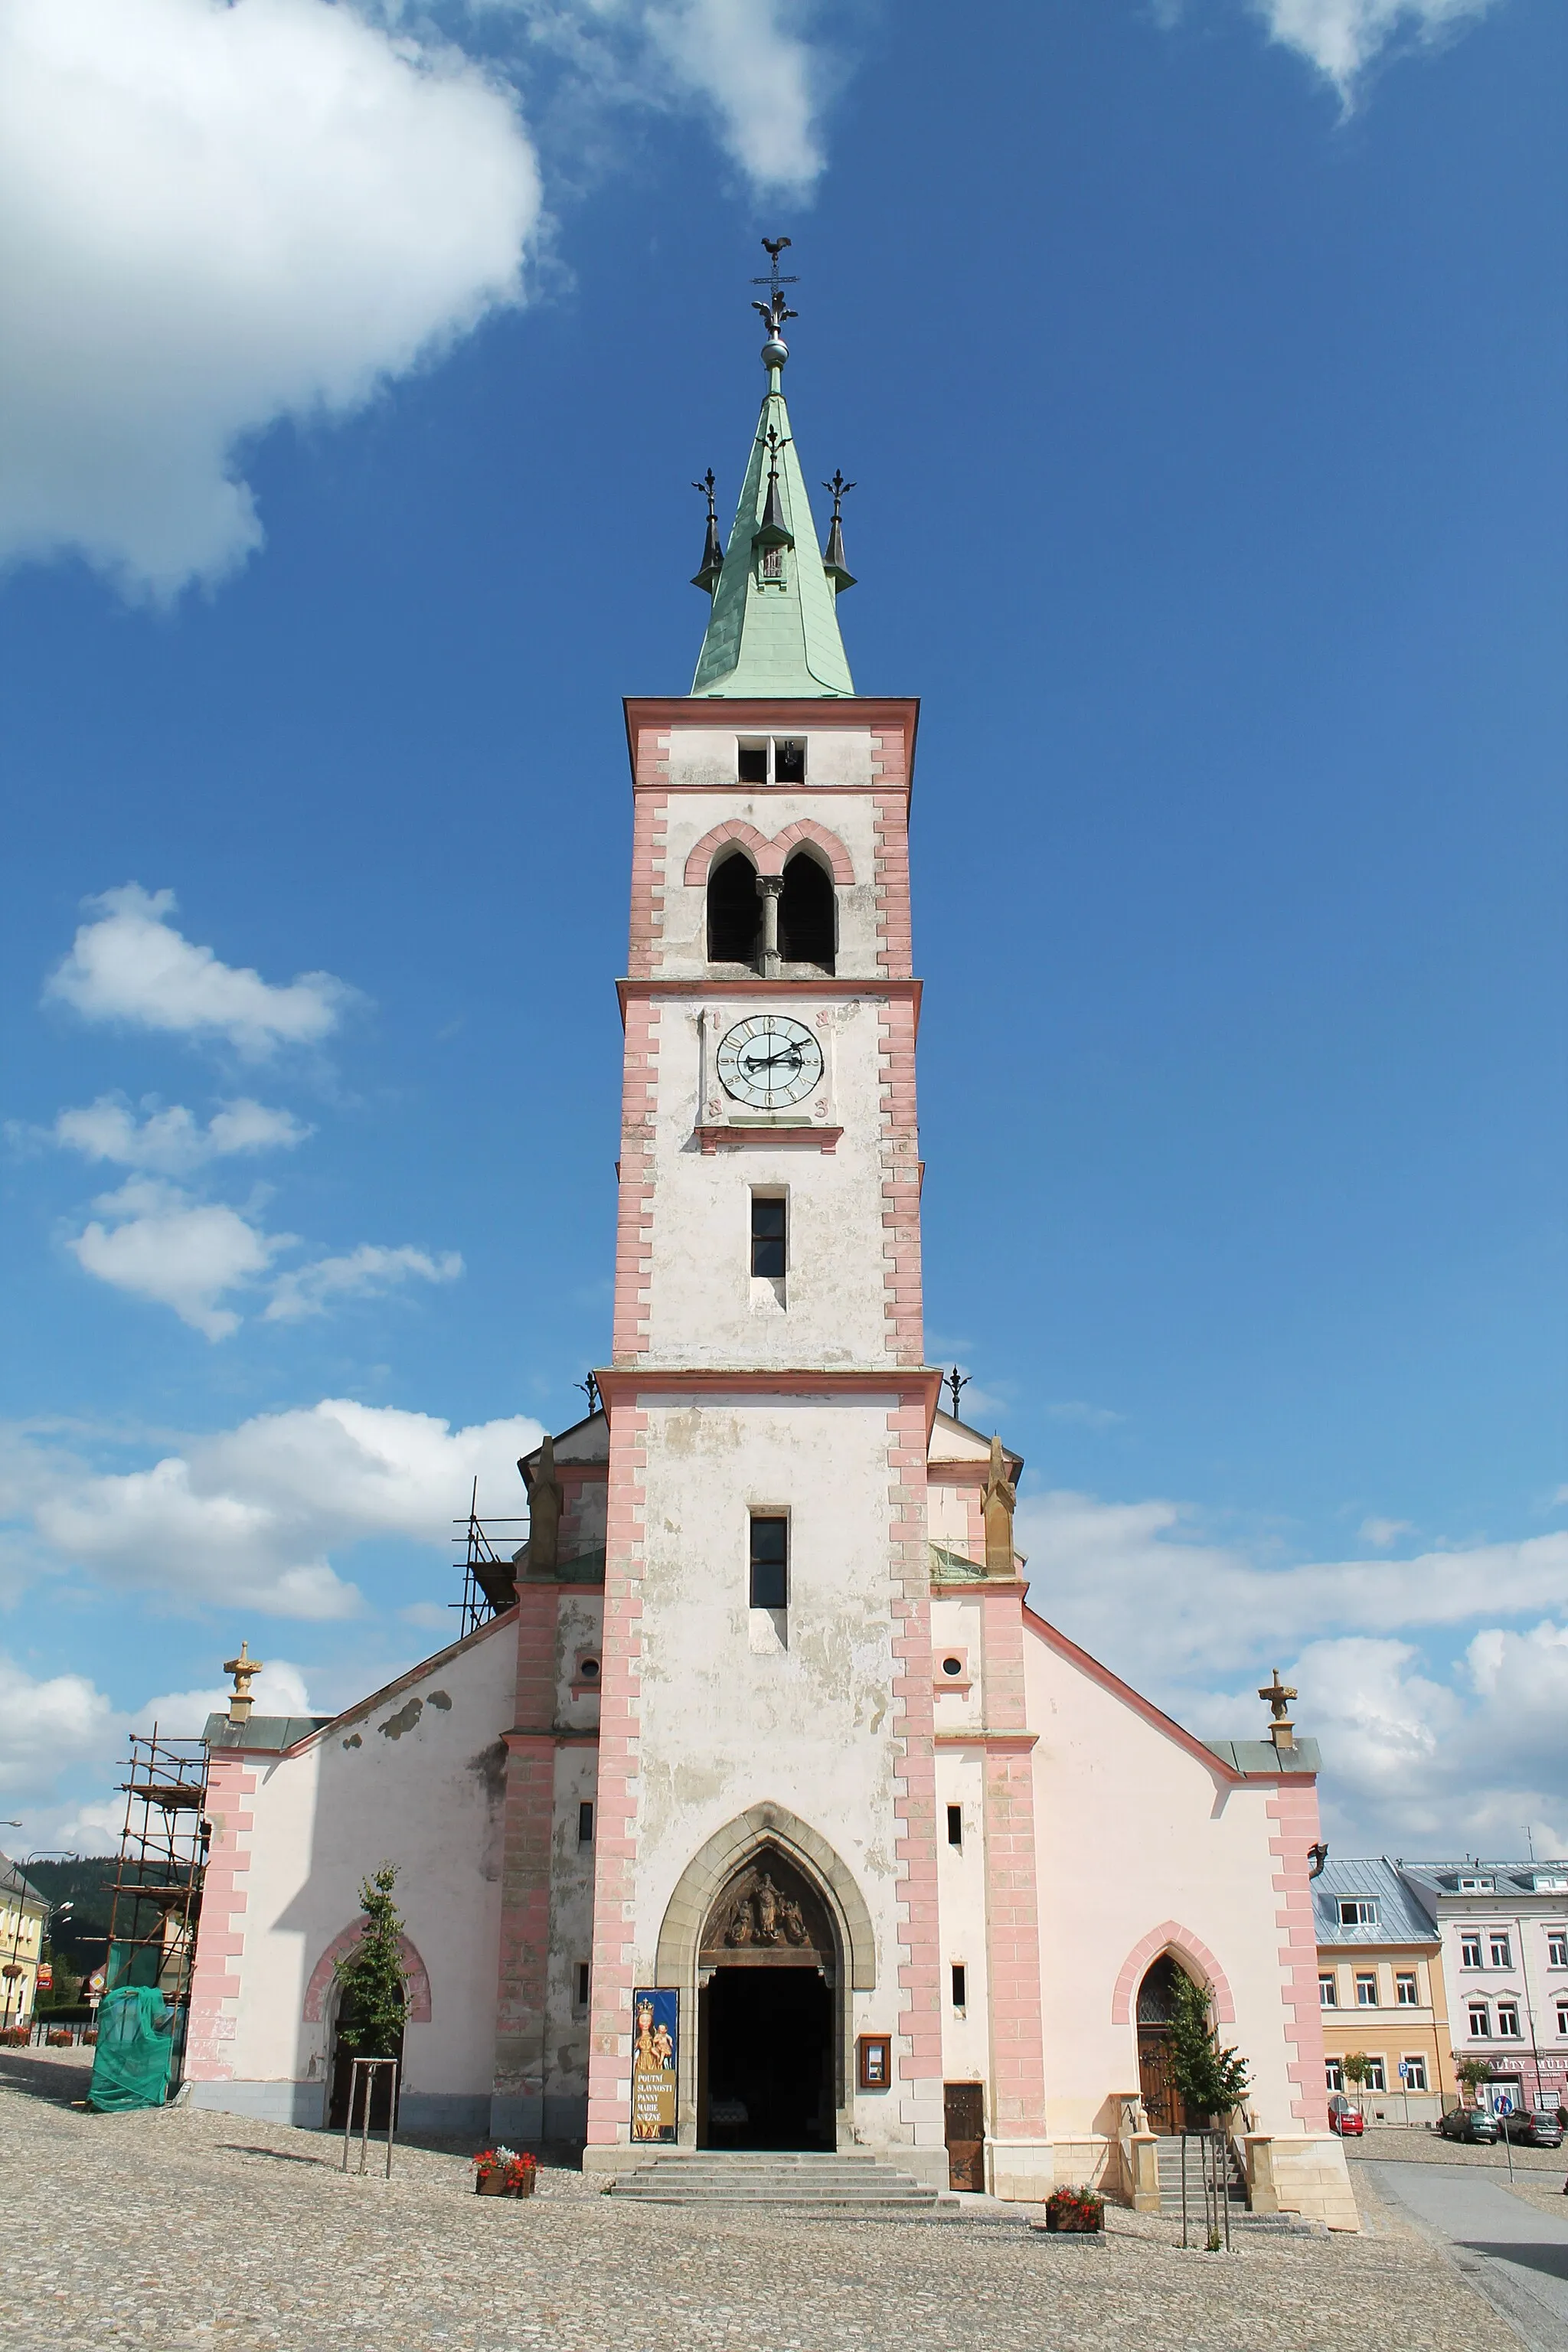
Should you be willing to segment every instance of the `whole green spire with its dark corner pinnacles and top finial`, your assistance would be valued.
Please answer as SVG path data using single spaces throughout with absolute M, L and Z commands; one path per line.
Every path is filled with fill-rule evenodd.
M 769 388 L 729 548 L 722 557 L 712 520 L 712 477 L 696 485 L 708 489 L 710 522 L 703 567 L 693 586 L 710 590 L 712 612 L 691 691 L 710 696 L 853 694 L 856 684 L 849 675 L 835 612 L 839 590 L 853 588 L 844 567 L 844 527 L 839 522 L 839 501 L 846 489 L 853 489 L 853 482 L 844 482 L 839 473 L 827 485 L 835 501 L 827 560 L 823 560 L 783 397 L 783 365 L 790 358 L 783 327 L 785 320 L 795 318 L 795 310 L 785 306 L 783 287 L 795 285 L 795 280 L 778 275 L 778 254 L 790 240 L 764 238 L 762 242 L 771 273 L 757 285 L 769 287 L 769 299 L 752 303 L 752 308 L 766 325 L 762 365 L 769 372 Z M 717 569 L 715 557 L 719 557 Z

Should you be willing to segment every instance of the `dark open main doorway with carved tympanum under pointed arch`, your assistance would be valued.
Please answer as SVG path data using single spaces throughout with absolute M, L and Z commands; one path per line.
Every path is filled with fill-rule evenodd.
M 839 2002 L 827 1905 L 788 1856 L 757 1849 L 698 1945 L 698 2147 L 835 2145 Z

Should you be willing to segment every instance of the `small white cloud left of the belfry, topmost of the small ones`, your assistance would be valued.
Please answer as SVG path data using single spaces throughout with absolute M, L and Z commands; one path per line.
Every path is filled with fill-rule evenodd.
M 85 903 L 96 910 L 92 922 L 45 981 L 45 1000 L 59 997 L 85 1021 L 221 1040 L 256 1061 L 280 1044 L 320 1044 L 355 1000 L 329 971 L 277 985 L 249 967 L 223 964 L 167 920 L 176 906 L 169 889 L 127 882 Z

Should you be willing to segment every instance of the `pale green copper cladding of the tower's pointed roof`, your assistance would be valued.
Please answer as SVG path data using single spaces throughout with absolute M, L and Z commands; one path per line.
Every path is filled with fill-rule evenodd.
M 764 581 L 762 548 L 755 546 L 769 501 L 769 430 L 778 435 L 773 452 L 778 510 L 790 534 L 780 581 Z M 835 583 L 823 572 L 823 548 L 790 437 L 778 367 L 769 369 L 769 390 L 691 691 L 748 696 L 856 691 L 839 637 Z

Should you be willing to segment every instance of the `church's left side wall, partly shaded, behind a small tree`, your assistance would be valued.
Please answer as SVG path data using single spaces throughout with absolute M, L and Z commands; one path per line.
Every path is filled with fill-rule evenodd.
M 440 2117 L 447 2110 L 433 2103 L 442 2100 L 489 2107 L 501 1733 L 512 1691 L 505 1621 L 308 1748 L 252 1759 L 233 2082 L 197 2084 L 200 2105 L 324 2119 L 334 2004 L 306 2023 L 306 1987 L 327 1945 L 360 1917 L 360 1882 L 393 1860 L 404 1933 L 430 1978 L 430 2023 L 409 2025 L 404 2039 L 404 2117 Z

